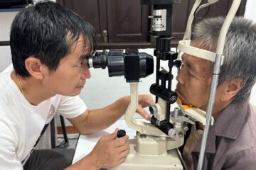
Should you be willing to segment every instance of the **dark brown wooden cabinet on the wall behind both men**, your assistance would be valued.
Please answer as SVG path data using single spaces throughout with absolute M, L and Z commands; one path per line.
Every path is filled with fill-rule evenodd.
M 155 38 L 149 35 L 151 7 L 141 5 L 140 0 L 57 0 L 59 4 L 72 9 L 95 27 L 97 49 L 123 49 L 155 47 Z M 188 15 L 195 0 L 181 0 L 174 4 L 173 33 L 171 41 L 176 47 L 183 38 Z M 210 8 L 206 17 L 225 16 L 233 0 L 219 0 Z M 237 15 L 245 13 L 246 0 Z M 201 11 L 202 16 L 206 11 Z M 194 23 L 200 21 L 196 19 Z

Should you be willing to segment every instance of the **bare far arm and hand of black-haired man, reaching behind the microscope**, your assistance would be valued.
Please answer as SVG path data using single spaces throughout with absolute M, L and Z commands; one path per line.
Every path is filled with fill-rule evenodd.
M 82 134 L 90 134 L 92 132 L 98 132 L 112 125 L 116 120 L 124 115 L 130 101 L 130 96 L 124 96 L 119 100 L 106 106 L 105 108 L 86 110 L 84 113 L 76 118 L 70 118 L 75 128 Z M 139 106 L 137 107 L 137 113 L 142 115 L 143 118 L 149 120 L 149 114 L 143 109 L 146 106 L 154 104 L 154 100 L 151 95 L 139 95 Z

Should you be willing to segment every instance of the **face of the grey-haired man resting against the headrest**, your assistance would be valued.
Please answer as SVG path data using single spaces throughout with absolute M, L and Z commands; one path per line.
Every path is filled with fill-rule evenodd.
M 183 55 L 182 60 L 181 71 L 176 77 L 176 93 L 183 104 L 206 111 L 210 94 L 211 62 L 187 54 Z

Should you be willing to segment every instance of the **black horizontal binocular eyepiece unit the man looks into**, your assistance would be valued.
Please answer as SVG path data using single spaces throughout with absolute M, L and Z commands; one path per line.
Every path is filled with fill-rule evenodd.
M 139 81 L 154 72 L 151 55 L 138 50 L 110 50 L 95 52 L 88 62 L 89 67 L 108 68 L 109 77 L 123 76 L 128 82 Z

